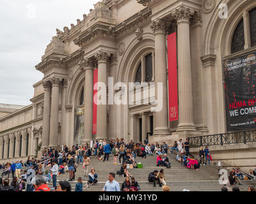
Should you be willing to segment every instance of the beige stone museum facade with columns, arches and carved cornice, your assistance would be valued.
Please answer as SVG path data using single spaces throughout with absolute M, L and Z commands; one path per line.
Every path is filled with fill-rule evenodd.
M 240 123 L 227 119 L 232 82 L 227 79 L 231 83 L 227 91 L 224 68 L 236 69 L 233 62 L 228 66 L 231 59 L 246 55 L 249 61 L 249 55 L 255 56 L 255 1 L 104 0 L 76 25 L 56 31 L 36 65 L 44 78 L 33 85 L 32 104 L 0 119 L 0 161 L 33 156 L 39 143 L 42 148 L 70 147 L 95 139 L 139 142 L 148 137 L 150 142 L 172 145 L 179 138 L 244 130 L 230 129 Z M 172 33 L 177 33 L 179 120 L 175 121 L 168 113 L 172 87 L 167 37 Z M 143 97 L 128 104 L 98 104 L 94 112 L 95 69 L 97 81 L 106 84 L 107 99 L 111 94 L 122 97 L 123 85 L 129 87 L 131 82 L 140 85 L 127 89 L 134 94 L 127 94 L 127 100 L 137 92 Z M 123 85 L 113 88 L 110 82 Z M 152 111 L 159 83 L 161 110 Z M 253 128 L 254 124 L 248 129 Z M 250 149 L 256 151 L 254 146 Z

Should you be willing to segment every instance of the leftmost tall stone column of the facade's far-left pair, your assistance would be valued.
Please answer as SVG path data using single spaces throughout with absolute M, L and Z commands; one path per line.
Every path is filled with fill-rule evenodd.
M 44 116 L 43 116 L 43 135 L 42 135 L 42 147 L 49 147 L 49 135 L 50 135 L 50 112 L 51 112 L 51 83 L 44 82 Z

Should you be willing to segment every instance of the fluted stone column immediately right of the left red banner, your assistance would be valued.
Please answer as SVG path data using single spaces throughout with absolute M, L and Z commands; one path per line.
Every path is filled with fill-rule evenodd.
M 107 86 L 107 59 L 108 54 L 106 52 L 99 51 L 95 55 L 98 61 L 98 82 L 102 82 Z M 103 87 L 101 87 L 102 89 Z M 98 85 L 99 91 L 99 85 Z M 101 90 L 101 92 L 106 92 L 106 90 Z M 105 94 L 101 95 L 106 97 Z M 101 99 L 104 101 L 105 99 Z M 99 101 L 98 101 L 99 102 Z M 97 105 L 97 140 L 108 139 L 107 138 L 107 105 L 99 104 Z

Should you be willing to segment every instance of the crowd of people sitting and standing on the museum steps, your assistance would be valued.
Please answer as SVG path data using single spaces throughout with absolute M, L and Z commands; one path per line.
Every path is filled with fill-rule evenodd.
M 184 152 L 184 149 L 186 152 Z M 134 143 L 132 140 L 128 143 L 124 142 L 124 139 L 116 140 L 99 140 L 95 141 L 93 147 L 90 147 L 88 143 L 85 145 L 73 145 L 72 148 L 68 148 L 67 145 L 61 149 L 44 149 L 42 151 L 42 157 L 40 159 L 28 157 L 27 161 L 17 161 L 13 163 L 6 163 L 1 165 L 3 168 L 2 178 L 6 175 L 7 178 L 0 179 L 0 191 L 71 191 L 70 181 L 75 180 L 76 169 L 78 164 L 83 164 L 84 177 L 88 177 L 85 189 L 97 184 L 98 175 L 95 168 L 90 168 L 91 156 L 97 157 L 99 161 L 105 162 L 109 160 L 109 154 L 113 155 L 113 164 L 117 164 L 119 161 L 120 171 L 116 173 L 109 173 L 108 182 L 106 182 L 102 191 L 139 191 L 140 185 L 136 179 L 128 171 L 129 168 L 138 168 L 136 163 L 136 157 L 147 158 L 147 156 L 157 155 L 156 166 L 165 166 L 171 168 L 171 163 L 167 157 L 168 150 L 171 153 L 177 154 L 176 160 L 183 164 L 184 167 L 191 170 L 198 171 L 200 165 L 204 163 L 207 165 L 211 163 L 212 157 L 209 152 L 209 148 L 200 148 L 198 157 L 194 157 L 189 154 L 189 142 L 182 143 L 182 139 L 179 142 L 174 143 L 173 147 L 168 147 L 164 142 L 148 143 L 146 139 L 144 143 Z M 49 170 L 47 170 L 49 168 Z M 23 174 L 22 174 L 23 171 Z M 90 173 L 88 173 L 90 171 Z M 12 182 L 10 183 L 9 175 L 12 173 Z M 68 173 L 69 180 L 63 180 L 58 182 L 57 177 L 60 174 Z M 243 174 L 239 171 L 239 168 L 234 169 L 228 176 L 228 182 L 230 186 L 234 184 L 241 184 L 240 180 L 243 179 L 255 179 L 255 170 L 250 170 L 248 175 L 243 178 Z M 119 186 L 115 181 L 115 175 L 125 177 L 124 182 Z M 87 179 L 87 178 L 86 178 Z M 52 181 L 52 189 L 49 189 L 49 182 Z M 148 175 L 148 182 L 152 182 L 153 186 L 159 184 L 159 187 L 163 187 L 163 191 L 170 191 L 170 187 L 166 185 L 166 179 L 164 177 L 164 170 L 154 170 Z M 225 184 L 226 184 L 225 183 Z M 254 191 L 251 186 L 250 191 Z M 222 191 L 223 189 L 221 189 Z M 83 178 L 77 178 L 77 184 L 75 191 L 83 191 Z

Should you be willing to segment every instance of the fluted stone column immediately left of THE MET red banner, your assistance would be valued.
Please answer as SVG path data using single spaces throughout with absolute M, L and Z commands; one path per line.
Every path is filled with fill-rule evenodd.
M 156 82 L 156 99 L 161 96 L 157 91 L 157 84 L 163 85 L 163 98 L 159 98 L 163 108 L 156 111 L 156 128 L 154 135 L 164 136 L 170 135 L 168 128 L 168 94 L 167 94 L 167 70 L 166 70 L 166 22 L 164 20 L 156 20 L 150 25 L 155 36 L 155 82 Z

